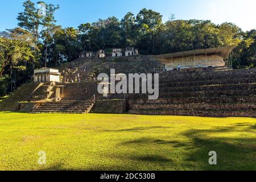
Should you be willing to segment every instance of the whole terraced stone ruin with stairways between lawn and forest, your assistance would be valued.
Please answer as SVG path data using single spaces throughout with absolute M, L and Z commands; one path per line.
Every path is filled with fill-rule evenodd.
M 218 56 L 225 57 L 220 51 Z M 79 75 L 81 82 L 24 84 L 0 105 L 0 110 L 256 117 L 256 69 L 204 67 L 202 62 L 201 67 L 164 72 L 160 62 L 152 56 L 141 55 L 72 61 L 60 66 L 61 75 L 68 80 L 75 80 Z M 99 73 L 109 74 L 110 68 L 126 75 L 158 72 L 158 100 L 148 100 L 147 94 L 102 97 L 97 92 L 95 78 Z

